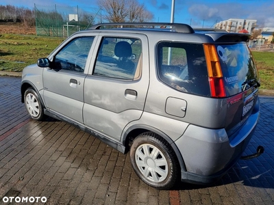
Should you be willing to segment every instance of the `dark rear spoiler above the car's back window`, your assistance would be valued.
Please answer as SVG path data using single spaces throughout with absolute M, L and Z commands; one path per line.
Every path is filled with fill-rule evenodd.
M 205 33 L 206 36 L 210 36 L 214 42 L 247 42 L 250 35 L 247 33 Z

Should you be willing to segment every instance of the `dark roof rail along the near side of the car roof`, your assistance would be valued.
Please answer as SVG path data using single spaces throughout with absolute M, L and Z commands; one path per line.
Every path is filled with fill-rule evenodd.
M 179 33 L 195 33 L 190 25 L 183 23 L 100 23 L 97 25 L 92 25 L 90 29 L 101 29 L 101 27 L 173 29 L 174 31 Z

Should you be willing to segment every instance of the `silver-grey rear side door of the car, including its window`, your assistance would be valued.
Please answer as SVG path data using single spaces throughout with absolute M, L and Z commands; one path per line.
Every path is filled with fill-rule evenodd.
M 147 36 L 101 35 L 84 85 L 84 124 L 120 140 L 123 128 L 140 119 L 145 106 L 149 87 Z

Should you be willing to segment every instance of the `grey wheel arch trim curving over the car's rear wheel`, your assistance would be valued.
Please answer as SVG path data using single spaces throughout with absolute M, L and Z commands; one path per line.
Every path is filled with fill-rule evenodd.
M 129 152 L 129 148 L 132 145 L 132 141 L 134 141 L 134 139 L 138 137 L 138 135 L 140 135 L 141 133 L 147 133 L 147 132 L 152 132 L 152 133 L 155 133 L 156 135 L 159 135 L 171 145 L 171 148 L 173 148 L 173 151 L 175 152 L 177 156 L 177 160 L 179 162 L 181 171 L 186 172 L 186 165 L 184 163 L 184 159 L 182 157 L 181 152 L 179 152 L 179 149 L 177 148 L 174 141 L 168 135 L 160 131 L 158 128 L 154 128 L 147 124 L 134 124 L 133 126 L 130 126 L 129 128 L 127 128 L 127 131 L 125 131 L 122 139 L 122 143 L 125 146 L 125 153 Z

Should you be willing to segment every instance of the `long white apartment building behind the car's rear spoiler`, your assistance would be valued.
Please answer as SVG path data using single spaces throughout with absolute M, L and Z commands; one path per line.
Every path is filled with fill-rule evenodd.
M 256 27 L 256 23 L 257 20 L 252 19 L 229 18 L 228 20 L 223 20 L 219 23 L 216 23 L 215 29 L 225 29 L 227 32 L 236 33 L 245 29 L 251 33 Z

